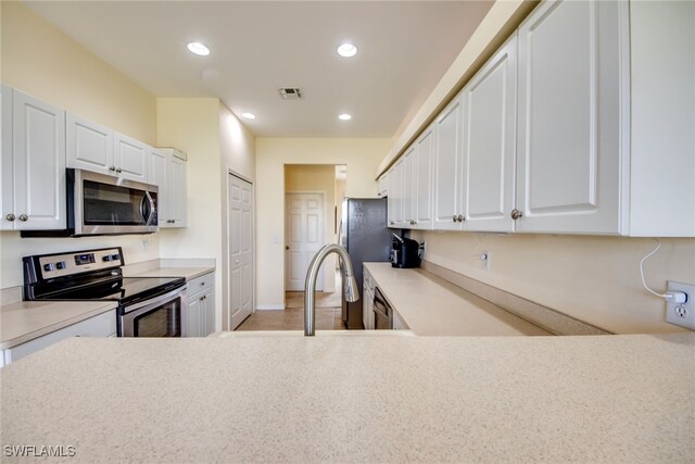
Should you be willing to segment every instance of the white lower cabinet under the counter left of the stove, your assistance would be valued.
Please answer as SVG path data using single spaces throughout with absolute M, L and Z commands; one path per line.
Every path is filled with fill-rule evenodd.
M 3 362 L 10 364 L 70 337 L 113 337 L 116 335 L 116 310 L 63 327 L 34 340 L 3 350 Z

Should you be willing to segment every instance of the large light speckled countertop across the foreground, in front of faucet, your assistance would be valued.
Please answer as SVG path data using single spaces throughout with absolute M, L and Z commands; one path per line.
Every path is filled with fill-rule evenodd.
M 89 463 L 692 463 L 694 354 L 695 334 L 70 339 L 0 369 L 1 444 Z

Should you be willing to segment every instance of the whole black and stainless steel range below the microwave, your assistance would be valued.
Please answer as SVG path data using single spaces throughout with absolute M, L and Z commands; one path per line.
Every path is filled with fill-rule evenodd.
M 186 279 L 123 277 L 121 247 L 25 256 L 25 300 L 115 301 L 118 337 L 185 337 Z

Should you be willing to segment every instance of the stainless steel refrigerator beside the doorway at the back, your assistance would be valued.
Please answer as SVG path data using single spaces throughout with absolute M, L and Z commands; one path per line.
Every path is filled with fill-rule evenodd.
M 345 198 L 340 222 L 340 244 L 345 247 L 355 278 L 359 286 L 359 300 L 349 303 L 342 291 L 342 319 L 345 328 L 364 328 L 362 322 L 363 277 L 362 264 L 389 261 L 391 234 L 387 228 L 386 198 Z

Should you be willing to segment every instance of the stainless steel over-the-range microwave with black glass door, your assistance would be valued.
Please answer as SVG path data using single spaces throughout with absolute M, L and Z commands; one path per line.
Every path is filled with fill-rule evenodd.
M 24 230 L 22 237 L 152 234 L 157 230 L 154 185 L 85 170 L 66 170 L 67 228 Z

